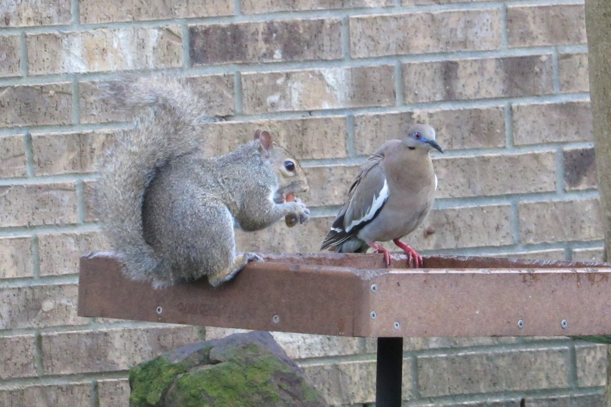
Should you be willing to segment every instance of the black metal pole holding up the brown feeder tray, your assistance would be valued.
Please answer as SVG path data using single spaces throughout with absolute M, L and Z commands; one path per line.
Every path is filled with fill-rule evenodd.
M 376 407 L 401 407 L 403 337 L 378 338 Z

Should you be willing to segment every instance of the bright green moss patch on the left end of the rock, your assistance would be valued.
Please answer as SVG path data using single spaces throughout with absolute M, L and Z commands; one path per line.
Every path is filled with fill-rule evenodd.
M 185 364 L 171 363 L 163 356 L 133 367 L 130 371 L 130 407 L 159 406 L 176 376 L 186 370 Z

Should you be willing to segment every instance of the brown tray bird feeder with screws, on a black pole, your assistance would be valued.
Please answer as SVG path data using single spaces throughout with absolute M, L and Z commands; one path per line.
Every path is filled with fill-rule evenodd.
M 78 315 L 376 337 L 378 407 L 401 405 L 403 337 L 611 334 L 611 264 L 425 256 L 413 269 L 399 254 L 389 268 L 379 254 L 263 258 L 221 287 L 155 290 L 124 276 L 117 253 L 86 253 Z

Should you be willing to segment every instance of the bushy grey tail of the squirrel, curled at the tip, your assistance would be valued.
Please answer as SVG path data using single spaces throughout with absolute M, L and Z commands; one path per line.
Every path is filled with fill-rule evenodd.
M 197 149 L 209 117 L 208 103 L 188 82 L 169 77 L 123 77 L 104 86 L 118 109 L 134 113 L 136 126 L 120 132 L 100 162 L 95 206 L 115 251 L 123 253 L 125 273 L 153 281 L 170 276 L 144 240 L 142 203 L 156 170 L 172 158 Z

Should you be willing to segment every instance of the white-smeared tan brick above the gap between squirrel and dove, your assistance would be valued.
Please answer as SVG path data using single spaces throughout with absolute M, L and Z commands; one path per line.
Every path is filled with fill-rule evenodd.
M 392 65 L 242 74 L 244 113 L 391 106 Z

